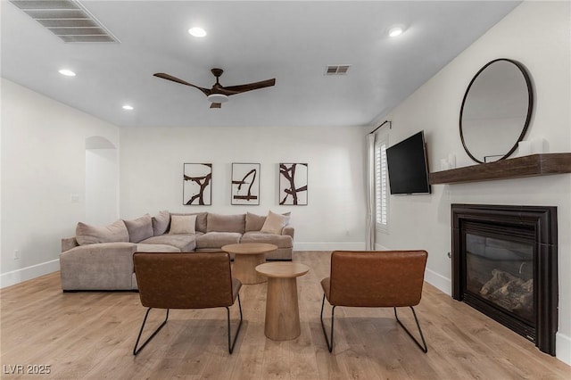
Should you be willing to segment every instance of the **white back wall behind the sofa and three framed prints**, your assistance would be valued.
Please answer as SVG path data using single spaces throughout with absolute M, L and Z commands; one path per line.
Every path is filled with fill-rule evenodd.
M 216 112 L 216 111 L 214 111 Z M 295 249 L 364 246 L 360 128 L 121 128 L 120 214 L 292 212 Z M 211 162 L 212 205 L 183 206 L 185 162 Z M 260 206 L 230 204 L 232 162 L 261 163 Z M 279 162 L 309 164 L 309 204 L 279 206 Z

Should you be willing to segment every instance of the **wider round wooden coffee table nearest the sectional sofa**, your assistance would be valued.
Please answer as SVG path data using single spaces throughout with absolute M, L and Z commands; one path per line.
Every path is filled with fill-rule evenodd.
M 242 284 L 260 284 L 266 282 L 266 277 L 256 272 L 256 266 L 266 262 L 266 253 L 276 250 L 276 245 L 266 243 L 228 244 L 222 247 L 222 251 L 235 254 L 234 276 L 239 279 Z

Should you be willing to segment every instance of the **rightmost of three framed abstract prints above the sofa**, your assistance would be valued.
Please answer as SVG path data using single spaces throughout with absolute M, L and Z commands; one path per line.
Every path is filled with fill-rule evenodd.
M 307 205 L 307 163 L 279 164 L 279 204 Z

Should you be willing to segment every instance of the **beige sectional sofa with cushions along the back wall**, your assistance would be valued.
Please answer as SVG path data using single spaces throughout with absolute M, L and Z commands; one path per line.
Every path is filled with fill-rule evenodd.
M 292 260 L 289 214 L 161 211 L 104 227 L 79 222 L 75 236 L 62 238 L 62 290 L 136 290 L 134 252 L 220 252 L 223 245 L 236 243 L 275 244 L 277 251 L 268 253 L 268 260 Z

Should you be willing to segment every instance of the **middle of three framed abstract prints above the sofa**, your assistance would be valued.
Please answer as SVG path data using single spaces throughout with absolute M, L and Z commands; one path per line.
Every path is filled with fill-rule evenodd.
M 232 204 L 260 204 L 260 164 L 232 163 Z

